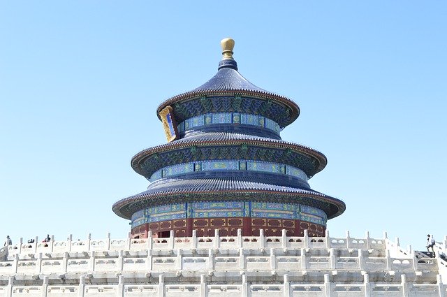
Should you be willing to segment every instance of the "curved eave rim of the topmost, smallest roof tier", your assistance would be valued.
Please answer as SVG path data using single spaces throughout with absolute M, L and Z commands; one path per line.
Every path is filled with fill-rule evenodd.
M 292 110 L 292 113 L 289 117 L 288 123 L 291 124 L 295 119 L 298 118 L 300 115 L 300 107 L 297 103 L 291 101 L 291 99 L 288 99 L 285 96 L 281 96 L 278 94 L 270 93 L 270 92 L 264 92 L 261 90 L 256 89 L 226 89 L 226 90 L 213 90 L 213 89 L 198 89 L 193 90 L 190 92 L 186 92 L 183 94 L 179 94 L 177 96 L 173 96 L 170 99 L 164 101 L 159 105 L 159 107 L 156 109 L 156 116 L 159 117 L 161 120 L 161 117 L 159 115 L 160 111 L 165 108 L 166 106 L 173 105 L 174 103 L 177 103 L 179 101 L 185 101 L 193 98 L 198 98 L 200 96 L 219 96 L 219 95 L 228 95 L 228 94 L 240 94 L 244 96 L 254 96 L 258 98 L 263 99 L 273 99 L 274 101 L 278 101 L 288 108 Z

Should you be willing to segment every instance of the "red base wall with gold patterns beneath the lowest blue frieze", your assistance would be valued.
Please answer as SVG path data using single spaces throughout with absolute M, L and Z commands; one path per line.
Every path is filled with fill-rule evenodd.
M 172 221 L 147 223 L 131 230 L 132 238 L 147 238 L 149 231 L 154 237 L 168 237 L 173 230 L 175 237 L 192 236 L 197 230 L 197 236 L 214 236 L 214 230 L 219 229 L 220 236 L 237 236 L 237 229 L 242 229 L 242 236 L 259 236 L 259 230 L 264 230 L 265 236 L 281 236 L 286 229 L 287 236 L 303 236 L 307 229 L 309 236 L 325 236 L 325 226 L 298 219 L 263 219 L 253 217 L 216 217 L 212 219 L 174 219 Z

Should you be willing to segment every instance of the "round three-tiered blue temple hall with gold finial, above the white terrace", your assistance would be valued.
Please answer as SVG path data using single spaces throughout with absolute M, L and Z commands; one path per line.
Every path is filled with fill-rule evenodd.
M 133 238 L 324 236 L 328 219 L 345 204 L 308 180 L 325 168 L 316 150 L 281 140 L 300 114 L 298 105 L 256 87 L 237 71 L 234 41 L 221 42 L 217 74 L 157 108 L 168 143 L 136 154 L 132 168 L 147 191 L 124 198 L 113 211 L 131 220 Z

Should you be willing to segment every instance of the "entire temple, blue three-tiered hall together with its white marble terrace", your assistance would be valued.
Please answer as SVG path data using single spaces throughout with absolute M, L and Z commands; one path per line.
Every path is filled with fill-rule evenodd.
M 168 143 L 131 160 L 149 186 L 113 205 L 129 236 L 7 242 L 0 297 L 446 297 L 447 236 L 330 236 L 345 204 L 308 182 L 325 156 L 280 137 L 300 109 L 221 44 L 217 74 L 157 108 Z

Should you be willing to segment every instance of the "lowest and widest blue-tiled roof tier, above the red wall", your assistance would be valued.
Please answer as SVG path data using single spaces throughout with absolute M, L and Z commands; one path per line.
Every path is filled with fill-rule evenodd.
M 250 177 L 211 177 L 157 180 L 149 184 L 146 191 L 117 201 L 112 210 L 119 217 L 131 219 L 133 212 L 149 205 L 197 200 L 280 200 L 286 203 L 302 203 L 324 210 L 328 219 L 341 215 L 346 208 L 343 201 L 312 189 L 259 182 L 258 179 Z

